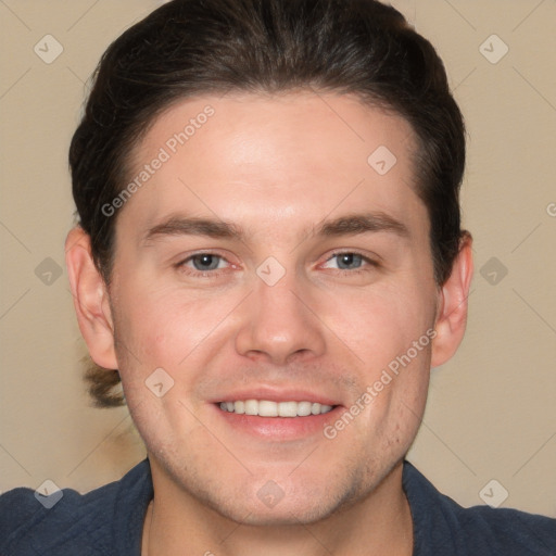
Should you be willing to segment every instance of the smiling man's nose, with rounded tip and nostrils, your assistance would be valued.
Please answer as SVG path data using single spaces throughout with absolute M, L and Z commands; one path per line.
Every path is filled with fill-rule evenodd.
M 313 304 L 288 275 L 274 286 L 257 280 L 236 337 L 238 353 L 276 365 L 321 355 L 324 327 Z

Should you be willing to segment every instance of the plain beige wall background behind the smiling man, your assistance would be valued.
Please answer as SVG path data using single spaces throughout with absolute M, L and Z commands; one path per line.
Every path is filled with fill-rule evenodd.
M 144 456 L 125 408 L 89 404 L 86 350 L 54 263 L 73 222 L 66 157 L 85 83 L 109 42 L 159 3 L 0 2 L 2 491 L 46 479 L 87 491 Z M 503 506 L 556 516 L 556 3 L 394 5 L 439 49 L 467 118 L 463 203 L 477 265 L 466 339 L 433 371 L 409 459 L 466 506 L 496 479 Z M 34 52 L 48 34 L 64 49 L 51 64 Z M 509 48 L 495 64 L 480 50 L 493 34 Z M 484 48 L 503 52 L 497 39 Z M 496 285 L 490 266 L 480 274 L 491 257 L 507 268 Z

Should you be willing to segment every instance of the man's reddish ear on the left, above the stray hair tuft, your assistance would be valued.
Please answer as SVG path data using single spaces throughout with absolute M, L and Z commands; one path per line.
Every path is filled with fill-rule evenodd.
M 117 369 L 108 288 L 93 263 L 90 237 L 80 227 L 67 235 L 65 264 L 77 321 L 92 361 L 106 369 Z

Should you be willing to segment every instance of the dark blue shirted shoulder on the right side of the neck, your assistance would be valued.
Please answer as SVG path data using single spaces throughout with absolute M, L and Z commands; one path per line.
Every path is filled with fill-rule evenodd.
M 404 463 L 404 490 L 414 519 L 415 556 L 554 556 L 556 519 L 489 506 L 464 508 Z

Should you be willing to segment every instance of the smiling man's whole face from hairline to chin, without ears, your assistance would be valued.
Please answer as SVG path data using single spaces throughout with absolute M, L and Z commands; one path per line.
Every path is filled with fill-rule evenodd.
M 155 481 L 308 522 L 400 467 L 439 301 L 415 149 L 404 119 L 330 93 L 187 100 L 150 128 L 110 303 Z

